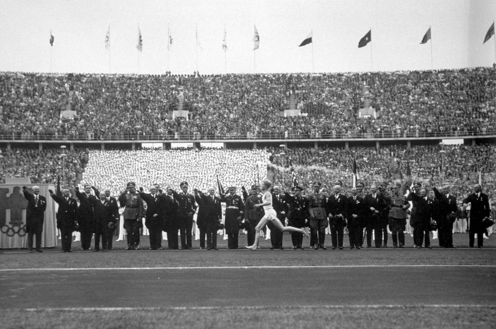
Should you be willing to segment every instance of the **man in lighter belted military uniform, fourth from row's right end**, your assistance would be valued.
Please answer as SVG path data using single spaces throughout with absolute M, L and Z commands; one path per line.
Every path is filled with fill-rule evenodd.
M 384 199 L 390 205 L 389 210 L 389 230 L 393 236 L 393 248 L 405 247 L 406 211 L 410 208 L 410 203 L 406 197 L 400 193 L 401 183 L 394 183 L 392 195 L 385 196 Z

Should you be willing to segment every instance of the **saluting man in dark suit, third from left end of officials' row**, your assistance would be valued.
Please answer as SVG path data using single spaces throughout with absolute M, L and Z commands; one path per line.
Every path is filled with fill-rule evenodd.
M 81 249 L 91 250 L 91 238 L 93 236 L 93 202 L 96 197 L 91 193 L 91 185 L 84 186 L 84 192 L 80 193 L 76 187 L 76 197 L 79 199 L 79 232 L 81 233 Z

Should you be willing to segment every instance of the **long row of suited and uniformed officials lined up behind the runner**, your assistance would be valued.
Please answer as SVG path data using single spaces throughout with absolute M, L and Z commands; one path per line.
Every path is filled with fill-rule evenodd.
M 413 227 L 414 244 L 417 248 L 431 248 L 429 233 L 438 230 L 439 246 L 454 248 L 452 226 L 457 211 L 456 198 L 449 193 L 449 186 L 439 189 L 434 186 L 434 199 L 428 196 L 428 189 L 419 182 L 414 182 L 413 189 L 407 188 L 406 195 L 401 194 L 400 183 L 394 183 L 389 190 L 387 183 L 380 186 L 372 185 L 368 194 L 363 192 L 364 182 L 357 182 L 350 195 L 342 192 L 342 181 L 334 181 L 333 192 L 326 195 L 321 191 L 322 184 L 314 182 L 313 191 L 307 196 L 302 195 L 303 188 L 293 187 L 291 193 L 274 185 L 272 190 L 272 206 L 281 223 L 293 227 L 310 227 L 310 247 L 326 249 L 325 230 L 329 226 L 332 249 L 344 249 L 343 236 L 345 227 L 348 228 L 350 248 L 360 249 L 372 247 L 372 232 L 375 235 L 375 247 L 387 247 L 388 230 L 392 233 L 392 246 L 405 247 L 407 210 L 410 209 L 410 225 Z M 71 251 L 72 233 L 79 231 L 81 249 L 91 250 L 91 239 L 95 235 L 93 251 L 112 250 L 113 233 L 117 220 L 120 218 L 119 205 L 124 207 L 124 230 L 127 234 L 125 250 L 138 250 L 140 244 L 140 229 L 142 219 L 149 230 L 150 249 L 162 248 L 162 231 L 168 235 L 169 249 L 179 249 L 178 232 L 181 237 L 181 248 L 191 249 L 191 232 L 193 215 L 198 209 L 196 225 L 200 234 L 200 249 L 218 250 L 217 231 L 224 229 L 228 236 L 228 249 L 238 249 L 240 229 L 248 233 L 248 245 L 254 242 L 255 227 L 263 217 L 262 207 L 254 207 L 262 203 L 259 186 L 253 185 L 249 191 L 242 187 L 243 198 L 236 194 L 236 187 L 228 188 L 226 195 L 215 195 L 215 188 L 206 191 L 194 189 L 189 193 L 187 182 L 180 184 L 181 191 L 177 192 L 167 187 L 163 192 L 158 184 L 150 187 L 145 193 L 143 188 L 136 190 L 133 182 L 127 183 L 126 188 L 116 199 L 110 195 L 110 189 L 103 192 L 85 185 L 84 191 L 75 188 L 79 206 L 70 197 L 68 189 L 62 189 L 62 195 L 49 190 L 50 196 L 59 204 L 57 212 L 57 228 L 61 231 L 62 251 Z M 91 194 L 91 189 L 95 195 Z M 41 232 L 43 229 L 46 199 L 39 195 L 39 187 L 32 188 L 33 194 L 23 187 L 24 196 L 29 201 L 26 217 L 28 233 L 28 251 L 33 249 L 33 236 L 36 235 L 36 250 L 41 249 Z M 475 234 L 478 235 L 478 247 L 483 247 L 483 235 L 486 233 L 487 220 L 490 214 L 488 195 L 481 192 L 476 184 L 474 193 L 468 195 L 463 203 L 471 204 L 471 220 L 469 226 L 469 246 L 474 247 Z M 249 193 L 248 193 L 249 192 Z M 225 220 L 222 221 L 221 203 L 226 203 Z M 146 203 L 146 209 L 144 206 Z M 272 248 L 282 249 L 282 232 L 271 223 Z M 303 234 L 292 232 L 293 249 L 303 249 Z M 365 244 L 366 242 L 366 244 Z

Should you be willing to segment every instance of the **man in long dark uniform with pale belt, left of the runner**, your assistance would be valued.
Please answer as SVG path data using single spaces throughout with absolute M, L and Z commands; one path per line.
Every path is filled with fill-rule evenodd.
M 230 187 L 228 195 L 221 195 L 221 202 L 226 203 L 224 230 L 226 230 L 227 234 L 227 248 L 238 249 L 238 236 L 240 234 L 240 223 L 243 219 L 244 205 L 241 196 L 236 194 L 236 187 Z

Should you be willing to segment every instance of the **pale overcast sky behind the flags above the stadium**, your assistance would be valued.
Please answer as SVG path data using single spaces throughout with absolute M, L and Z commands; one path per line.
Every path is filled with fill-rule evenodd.
M 496 17 L 495 0 L 0 0 L 0 5 L 0 71 L 50 72 L 52 63 L 52 72 L 109 73 L 109 53 L 111 73 L 426 70 L 431 41 L 420 41 L 429 26 L 434 69 L 496 61 L 495 37 L 482 44 Z M 135 47 L 138 24 L 142 52 Z M 109 25 L 110 51 L 104 43 Z M 260 35 L 255 51 L 254 25 Z M 168 28 L 174 39 L 170 51 Z M 370 29 L 372 42 L 358 48 Z M 313 43 L 298 47 L 311 31 Z

